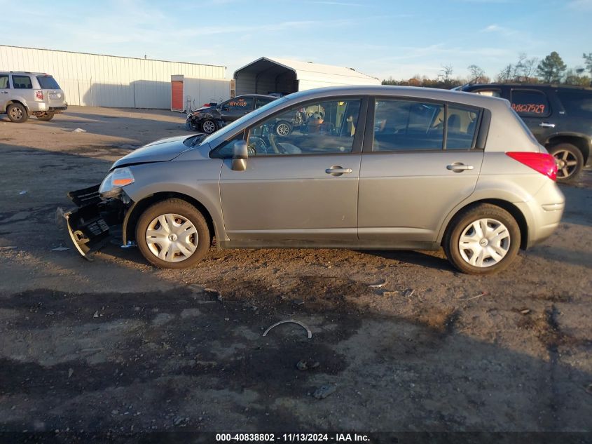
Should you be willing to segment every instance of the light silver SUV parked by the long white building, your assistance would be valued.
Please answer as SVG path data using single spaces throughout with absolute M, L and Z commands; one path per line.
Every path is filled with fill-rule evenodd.
M 64 91 L 49 74 L 0 71 L 0 114 L 22 123 L 29 116 L 49 121 L 67 109 Z

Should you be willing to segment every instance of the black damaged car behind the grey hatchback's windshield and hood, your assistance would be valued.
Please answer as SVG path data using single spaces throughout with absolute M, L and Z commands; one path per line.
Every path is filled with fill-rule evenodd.
M 207 134 L 214 133 L 227 123 L 240 119 L 254 109 L 267 105 L 277 97 L 263 94 L 238 95 L 220 105 L 202 107 L 187 114 L 185 128 L 202 131 Z

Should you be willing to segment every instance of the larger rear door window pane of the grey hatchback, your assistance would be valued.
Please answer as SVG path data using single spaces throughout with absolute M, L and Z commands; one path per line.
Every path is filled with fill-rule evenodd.
M 373 151 L 442 149 L 444 105 L 376 99 Z

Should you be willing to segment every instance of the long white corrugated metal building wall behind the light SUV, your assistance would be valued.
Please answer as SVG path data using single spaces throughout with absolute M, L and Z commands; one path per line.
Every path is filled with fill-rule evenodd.
M 171 75 L 224 79 L 226 67 L 0 45 L 0 70 L 47 72 L 69 105 L 170 109 Z

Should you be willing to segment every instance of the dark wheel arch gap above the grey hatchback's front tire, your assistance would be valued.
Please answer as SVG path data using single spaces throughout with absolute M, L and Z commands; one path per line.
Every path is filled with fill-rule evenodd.
M 149 196 L 145 196 L 141 200 L 135 202 L 127 213 L 125 213 L 125 218 L 123 220 L 123 230 L 122 230 L 122 237 L 124 245 L 128 243 L 128 241 L 135 240 L 136 236 L 136 225 L 140 215 L 149 208 L 149 206 L 153 205 L 153 203 L 165 201 L 167 199 L 181 199 L 188 203 L 191 203 L 195 208 L 197 208 L 200 213 L 202 213 L 205 221 L 207 222 L 207 228 L 209 229 L 209 243 L 212 245 L 212 241 L 216 236 L 216 225 L 214 224 L 214 219 L 212 215 L 209 213 L 207 208 L 197 199 L 188 196 L 187 194 L 179 193 L 176 191 L 161 191 L 155 194 L 150 194 Z

